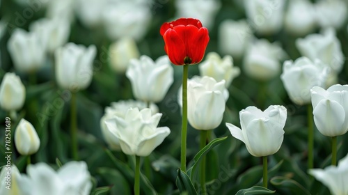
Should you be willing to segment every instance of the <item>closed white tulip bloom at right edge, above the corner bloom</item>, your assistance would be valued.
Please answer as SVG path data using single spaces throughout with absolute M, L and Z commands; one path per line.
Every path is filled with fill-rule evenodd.
M 319 132 L 335 137 L 348 131 L 348 85 L 333 85 L 327 90 L 311 90 L 314 122 Z

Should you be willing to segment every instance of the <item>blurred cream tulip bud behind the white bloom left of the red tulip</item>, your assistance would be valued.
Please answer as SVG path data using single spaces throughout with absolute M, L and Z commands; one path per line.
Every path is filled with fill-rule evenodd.
M 131 59 L 139 59 L 139 50 L 132 38 L 123 37 L 109 47 L 111 69 L 115 72 L 125 72 Z

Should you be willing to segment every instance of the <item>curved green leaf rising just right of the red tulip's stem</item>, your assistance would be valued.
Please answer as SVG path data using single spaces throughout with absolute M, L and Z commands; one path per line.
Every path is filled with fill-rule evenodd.
M 200 162 L 200 159 L 204 155 L 207 155 L 207 153 L 212 150 L 215 146 L 219 145 L 219 143 L 222 143 L 222 141 L 225 141 L 228 137 L 221 137 L 221 138 L 216 138 L 210 141 L 207 146 L 205 146 L 202 150 L 200 150 L 196 156 L 193 158 L 194 159 L 194 164 L 193 166 L 187 171 L 187 173 L 190 175 L 190 178 L 192 181 L 195 180 L 196 177 L 196 170 L 198 168 L 198 164 Z

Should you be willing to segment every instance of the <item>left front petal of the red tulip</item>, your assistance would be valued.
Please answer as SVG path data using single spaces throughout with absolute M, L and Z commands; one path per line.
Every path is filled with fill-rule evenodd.
M 183 65 L 186 57 L 185 44 L 175 30 L 168 29 L 163 36 L 165 42 L 165 51 L 169 59 L 175 65 Z

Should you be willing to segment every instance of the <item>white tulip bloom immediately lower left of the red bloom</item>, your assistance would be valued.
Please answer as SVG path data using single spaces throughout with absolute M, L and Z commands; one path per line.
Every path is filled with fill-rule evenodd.
M 174 70 L 168 56 L 161 56 L 155 62 L 148 56 L 132 59 L 126 72 L 131 81 L 136 99 L 145 102 L 160 102 L 173 84 Z

